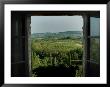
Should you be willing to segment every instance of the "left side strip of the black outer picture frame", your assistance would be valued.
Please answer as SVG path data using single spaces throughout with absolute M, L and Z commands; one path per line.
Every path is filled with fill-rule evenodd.
M 4 84 L 4 6 L 0 3 L 0 86 Z

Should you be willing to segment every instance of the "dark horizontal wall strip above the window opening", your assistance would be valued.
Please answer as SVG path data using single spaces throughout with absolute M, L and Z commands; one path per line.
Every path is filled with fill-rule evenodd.
M 12 11 L 14 14 L 25 14 L 30 16 L 59 16 L 59 15 L 90 15 L 100 17 L 100 11 Z

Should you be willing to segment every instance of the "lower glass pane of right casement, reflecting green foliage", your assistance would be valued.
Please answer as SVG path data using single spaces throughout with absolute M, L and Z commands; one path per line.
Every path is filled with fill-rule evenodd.
M 100 62 L 100 39 L 90 39 L 90 60 L 99 63 Z

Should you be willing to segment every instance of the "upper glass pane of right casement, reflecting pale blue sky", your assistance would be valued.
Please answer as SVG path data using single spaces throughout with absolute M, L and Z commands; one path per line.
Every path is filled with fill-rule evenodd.
M 100 18 L 90 17 L 90 35 L 100 36 Z

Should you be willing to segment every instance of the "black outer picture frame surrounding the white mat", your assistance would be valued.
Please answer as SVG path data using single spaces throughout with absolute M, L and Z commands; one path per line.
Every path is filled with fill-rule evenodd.
M 109 0 L 101 0 L 100 2 L 97 0 L 0 0 L 0 86 L 2 87 L 16 87 L 16 86 L 20 86 L 20 87 L 36 87 L 36 86 L 73 86 L 73 85 L 12 85 L 12 84 L 4 84 L 4 4 L 107 4 Z M 107 5 L 107 15 L 110 15 L 110 2 Z M 110 17 L 107 17 L 107 58 L 110 57 L 110 53 L 109 53 L 109 44 L 110 44 Z M 109 62 L 109 59 L 107 59 L 107 64 Z M 107 73 L 110 73 L 108 71 L 108 67 L 107 67 Z M 108 75 L 108 74 L 107 74 Z M 107 76 L 109 77 L 109 75 Z M 107 78 L 107 83 L 109 83 L 109 80 Z M 80 85 L 82 86 L 82 85 Z M 100 85 L 101 87 L 105 87 L 107 85 L 103 84 Z M 88 87 L 88 85 L 86 85 L 86 87 Z

